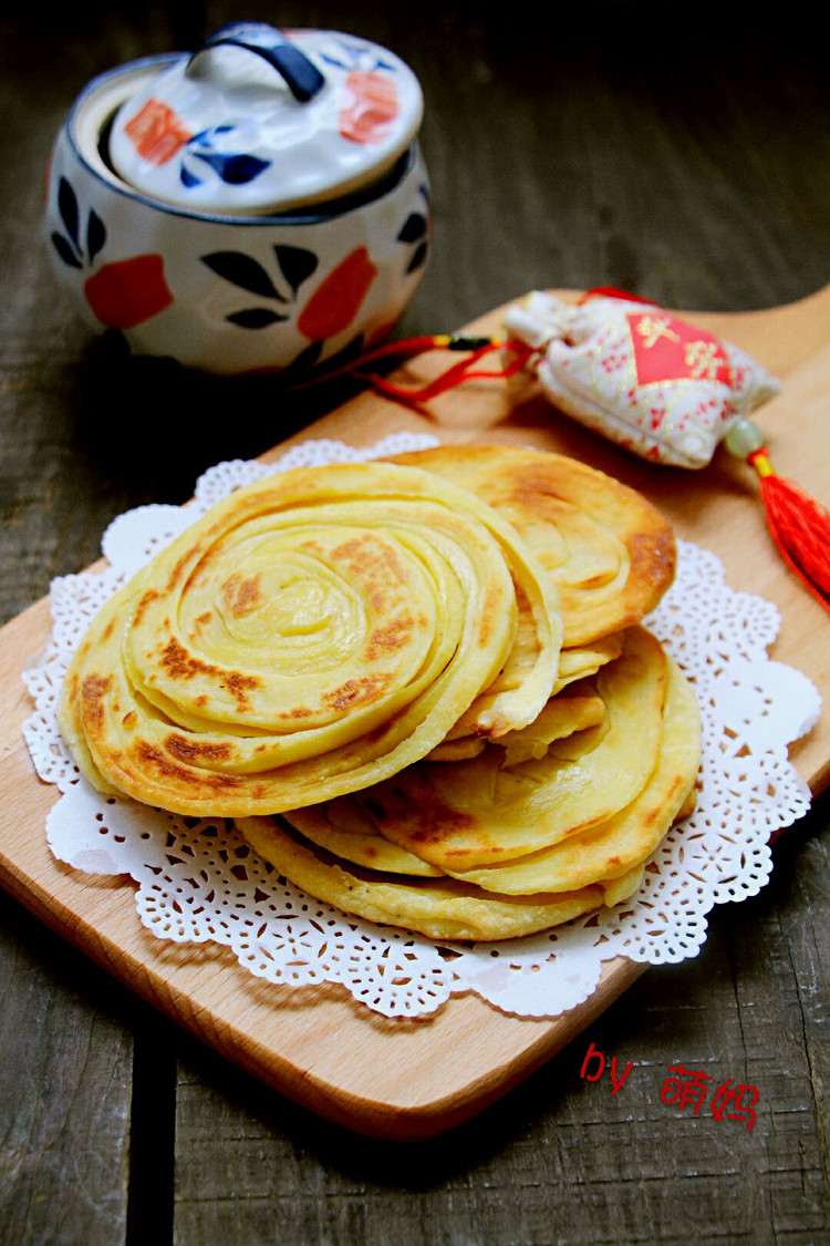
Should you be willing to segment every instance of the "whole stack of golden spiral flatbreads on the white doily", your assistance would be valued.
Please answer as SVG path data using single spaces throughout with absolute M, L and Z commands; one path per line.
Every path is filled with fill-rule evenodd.
M 61 731 L 100 790 L 233 817 L 281 876 L 439 939 L 637 890 L 701 719 L 641 625 L 674 573 L 638 493 L 438 447 L 233 492 L 100 612 Z

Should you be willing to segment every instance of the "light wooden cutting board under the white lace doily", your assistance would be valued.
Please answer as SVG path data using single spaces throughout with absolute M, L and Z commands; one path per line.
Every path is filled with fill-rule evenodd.
M 499 333 L 503 312 L 483 316 L 468 331 Z M 780 378 L 781 394 L 758 412 L 773 462 L 780 475 L 830 502 L 830 462 L 824 454 L 830 419 L 830 287 L 770 310 L 684 315 L 743 346 Z M 437 331 L 447 328 L 436 325 Z M 447 356 L 434 353 L 397 379 L 419 384 L 447 365 Z M 781 630 L 770 655 L 803 670 L 826 698 L 828 616 L 776 554 L 754 472 L 745 465 L 723 451 L 702 472 L 646 465 L 559 415 L 529 380 L 470 381 L 432 404 L 428 416 L 361 394 L 265 457 L 276 459 L 289 445 L 316 437 L 367 446 L 403 429 L 447 442 L 556 450 L 642 490 L 679 537 L 718 554 L 733 589 L 778 606 Z M 205 953 L 156 939 L 136 916 L 128 883 L 77 873 L 56 862 L 46 846 L 44 824 L 57 792 L 36 778 L 24 745 L 21 725 L 31 704 L 21 672 L 45 643 L 50 625 L 49 603 L 41 601 L 2 629 L 0 883 L 188 1030 L 311 1110 L 377 1136 L 442 1133 L 560 1050 L 642 972 L 623 959 L 610 962 L 591 999 L 555 1020 L 509 1017 L 465 996 L 452 998 L 427 1020 L 393 1022 L 353 1003 L 340 988 L 273 987 L 250 977 L 221 949 Z M 794 745 L 791 758 L 815 794 L 826 787 L 826 714 Z

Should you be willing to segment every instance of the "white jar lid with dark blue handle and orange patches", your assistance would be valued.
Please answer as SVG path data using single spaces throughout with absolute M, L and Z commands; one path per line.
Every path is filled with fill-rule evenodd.
M 375 181 L 422 115 L 414 74 L 377 44 L 234 22 L 121 106 L 110 158 L 175 207 L 284 212 Z

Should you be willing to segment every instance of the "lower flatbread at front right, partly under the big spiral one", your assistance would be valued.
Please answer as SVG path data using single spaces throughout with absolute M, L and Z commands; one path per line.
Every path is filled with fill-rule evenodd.
M 610 719 L 602 731 L 580 730 L 579 711 L 565 710 L 574 730 L 533 765 L 489 744 L 483 763 L 419 763 L 362 792 L 239 826 L 280 873 L 317 898 L 437 938 L 514 938 L 620 903 L 688 809 L 701 715 L 679 667 L 642 628 L 626 633 L 602 697 Z M 631 729 L 645 764 L 632 770 L 620 726 L 640 697 L 650 709 Z M 483 780 L 483 764 L 495 782 Z M 562 819 L 569 807 L 571 819 Z M 538 820 L 529 824 L 531 811 Z M 472 865 L 477 856 L 487 862 Z

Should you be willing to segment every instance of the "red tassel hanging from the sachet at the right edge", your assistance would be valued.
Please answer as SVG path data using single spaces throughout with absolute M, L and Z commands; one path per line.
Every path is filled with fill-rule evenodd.
M 747 462 L 758 472 L 767 523 L 781 557 L 830 612 L 830 511 L 800 485 L 778 476 L 765 446 Z

